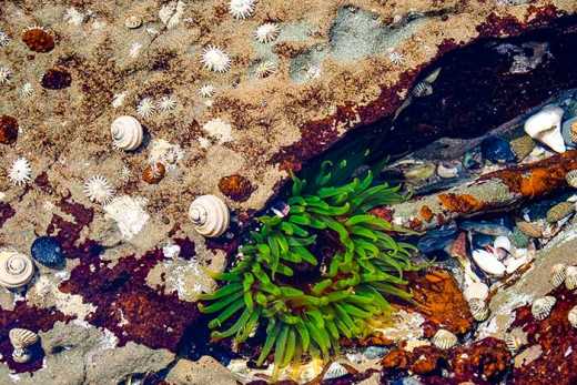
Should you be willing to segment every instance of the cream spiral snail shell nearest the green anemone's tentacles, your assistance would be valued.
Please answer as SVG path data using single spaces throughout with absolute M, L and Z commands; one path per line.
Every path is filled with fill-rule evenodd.
M 207 237 L 222 235 L 231 220 L 226 204 L 214 195 L 202 195 L 195 199 L 189 209 L 189 216 L 194 229 Z

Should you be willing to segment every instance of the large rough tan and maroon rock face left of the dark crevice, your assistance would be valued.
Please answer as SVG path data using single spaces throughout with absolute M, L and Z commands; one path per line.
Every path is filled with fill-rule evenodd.
M 200 267 L 195 281 L 176 271 L 183 261 L 222 269 L 237 245 L 194 233 L 193 197 L 223 197 L 236 232 L 287 170 L 355 128 L 387 123 L 435 58 L 575 12 L 570 0 L 306 0 L 262 1 L 236 20 L 223 1 L 3 1 L 0 115 L 13 120 L 0 143 L 0 246 L 28 252 L 49 234 L 67 265 L 39 266 L 28 292 L 0 293 L 0 383 L 113 384 L 166 368 L 201 322 L 195 295 L 211 286 Z M 269 21 L 279 37 L 255 41 Z M 230 71 L 203 68 L 211 45 Z M 263 77 L 262 63 L 276 70 Z M 206 84 L 212 97 L 199 94 Z M 138 151 L 112 146 L 122 114 L 144 125 Z M 8 175 L 20 156 L 26 185 Z M 166 174 L 148 184 L 140 175 L 159 158 Z M 97 174 L 118 197 L 107 210 L 83 191 Z M 40 332 L 43 354 L 29 366 L 10 359 L 11 327 Z M 179 361 L 172 378 L 186 365 L 196 364 Z

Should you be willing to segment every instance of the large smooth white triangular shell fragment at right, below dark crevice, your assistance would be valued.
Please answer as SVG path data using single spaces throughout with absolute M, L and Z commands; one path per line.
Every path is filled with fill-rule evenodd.
M 561 135 L 563 113 L 564 111 L 559 107 L 544 107 L 539 112 L 527 119 L 525 132 L 553 151 L 565 152 L 565 141 Z

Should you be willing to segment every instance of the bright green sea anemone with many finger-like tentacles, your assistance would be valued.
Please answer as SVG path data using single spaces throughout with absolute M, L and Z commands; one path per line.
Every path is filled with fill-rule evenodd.
M 342 337 L 370 333 L 371 320 L 392 311 L 388 296 L 411 298 L 403 273 L 418 269 L 409 261 L 414 247 L 391 236 L 406 231 L 370 213 L 404 196 L 375 183 L 371 171 L 338 184 L 344 166 L 324 163 L 311 184 L 293 178 L 288 213 L 259 217 L 236 265 L 215 275 L 226 284 L 202 296 L 200 310 L 217 314 L 209 324 L 219 330 L 214 340 L 242 343 L 265 327 L 257 365 L 273 351 L 275 369 L 307 355 L 326 357 Z M 323 234 L 335 239 L 330 257 L 315 247 Z M 303 266 L 311 278 L 303 278 L 310 275 Z

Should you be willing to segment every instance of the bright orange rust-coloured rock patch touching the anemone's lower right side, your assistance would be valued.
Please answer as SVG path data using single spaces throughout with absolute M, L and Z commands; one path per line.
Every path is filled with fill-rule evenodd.
M 473 316 L 455 278 L 443 270 L 407 274 L 416 305 L 403 305 L 437 327 L 463 334 L 473 327 Z

